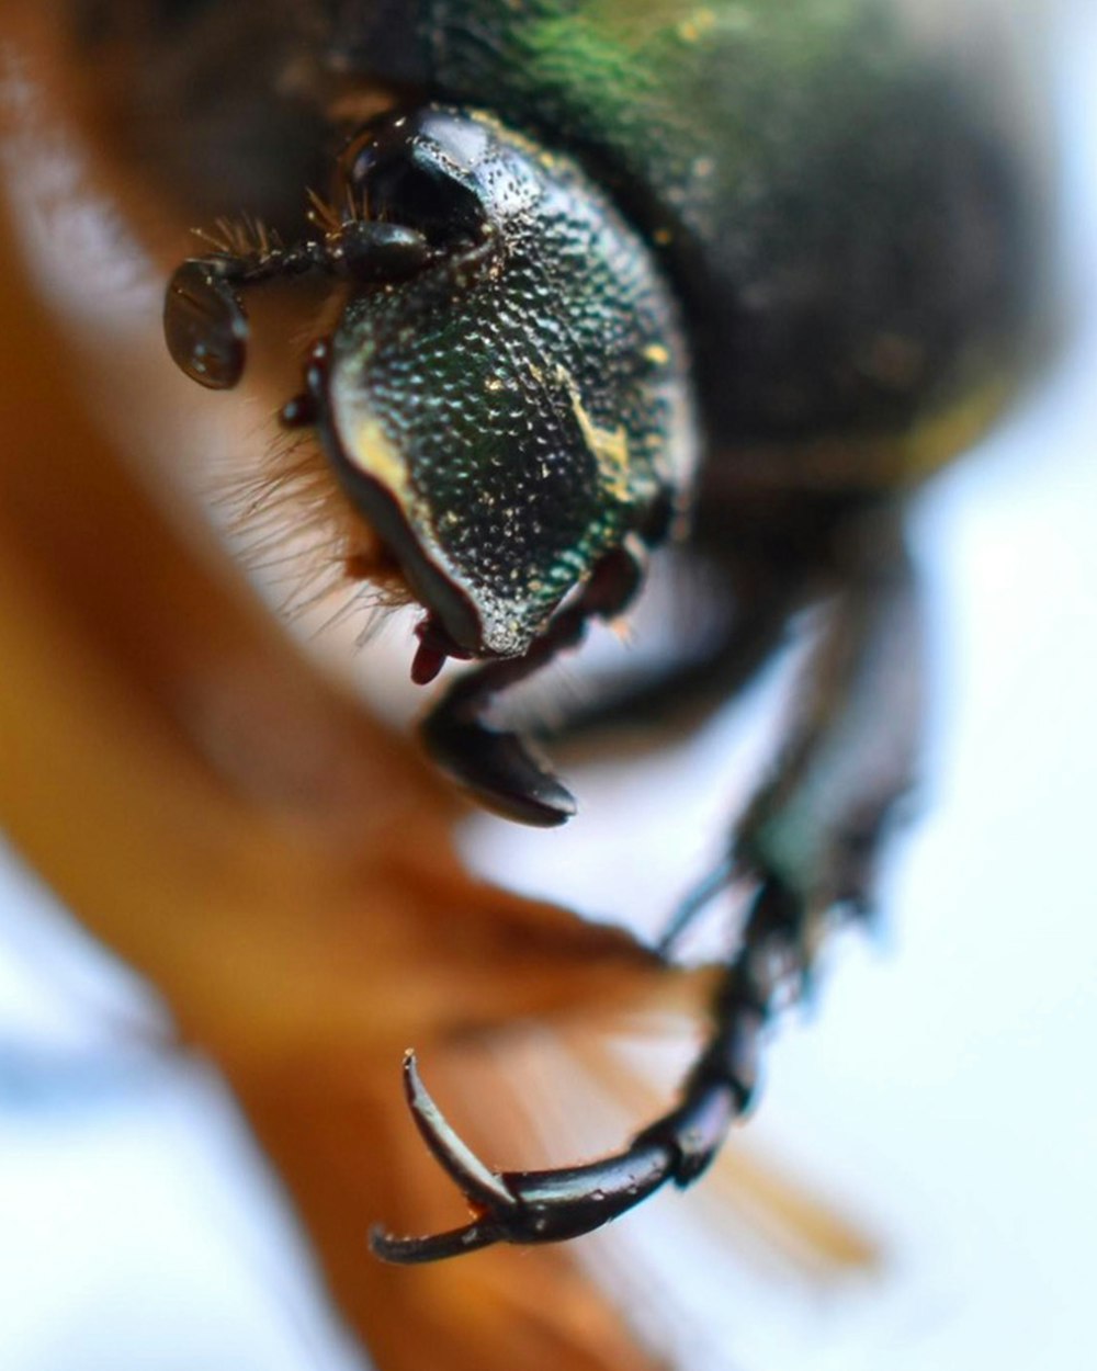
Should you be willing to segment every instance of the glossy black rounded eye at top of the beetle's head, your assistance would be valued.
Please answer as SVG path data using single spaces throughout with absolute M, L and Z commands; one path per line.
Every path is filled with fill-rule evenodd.
M 415 229 L 433 248 L 483 237 L 479 192 L 418 121 L 396 119 L 357 138 L 341 171 L 370 219 Z

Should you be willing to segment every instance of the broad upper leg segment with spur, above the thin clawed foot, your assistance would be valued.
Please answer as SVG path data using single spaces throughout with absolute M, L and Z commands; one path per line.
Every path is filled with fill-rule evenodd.
M 805 938 L 835 908 L 872 908 L 876 857 L 912 788 L 921 727 L 921 605 L 893 514 L 852 522 L 836 576 L 776 764 L 724 860 L 675 914 L 664 953 L 734 880 L 787 891 Z

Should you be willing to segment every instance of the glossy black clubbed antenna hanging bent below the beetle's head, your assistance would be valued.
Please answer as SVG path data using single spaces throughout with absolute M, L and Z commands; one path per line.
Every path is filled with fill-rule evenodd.
M 576 812 L 570 791 L 528 739 L 484 723 L 492 699 L 576 647 L 591 618 L 614 618 L 643 579 L 643 550 L 625 546 L 595 566 L 575 603 L 562 609 L 522 657 L 487 662 L 459 677 L 422 721 L 433 760 L 491 809 L 539 828 L 555 828 Z M 426 633 L 429 635 L 429 620 Z

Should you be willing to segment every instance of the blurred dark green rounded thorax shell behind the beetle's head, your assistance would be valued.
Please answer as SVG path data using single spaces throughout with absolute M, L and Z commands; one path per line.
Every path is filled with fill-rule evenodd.
M 1005 100 L 886 0 L 420 0 L 420 80 L 573 149 L 680 293 L 710 443 L 906 430 L 1012 359 Z M 389 25 L 391 27 L 391 25 Z M 369 69 L 367 33 L 357 60 Z M 941 452 L 875 452 L 883 474 Z M 865 470 L 867 480 L 880 473 Z

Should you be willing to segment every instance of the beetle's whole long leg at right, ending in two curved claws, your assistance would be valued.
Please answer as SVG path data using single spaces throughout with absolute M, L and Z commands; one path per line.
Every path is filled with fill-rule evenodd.
M 495 1242 L 554 1242 L 625 1213 L 666 1182 L 690 1185 L 750 1106 L 762 1038 L 812 972 L 835 908 L 863 912 L 894 802 L 909 787 L 919 732 L 917 595 L 898 529 L 865 520 L 842 548 L 830 620 L 809 662 L 788 740 L 736 827 L 730 858 L 687 902 L 697 912 L 732 877 L 754 897 L 712 1028 L 679 1105 L 620 1153 L 555 1171 L 492 1172 L 453 1132 L 406 1063 L 409 1104 L 474 1219 L 426 1238 L 372 1237 L 389 1261 L 432 1261 Z

